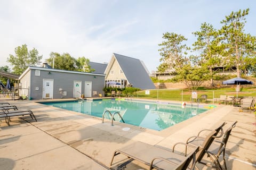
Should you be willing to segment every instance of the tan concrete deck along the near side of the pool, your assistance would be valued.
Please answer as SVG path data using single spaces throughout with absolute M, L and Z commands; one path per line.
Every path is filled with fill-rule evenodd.
M 30 109 L 37 121 L 11 118 L 10 126 L 0 120 L 1 169 L 108 169 L 114 151 L 134 141 L 172 148 L 202 129 L 219 123 L 238 121 L 226 150 L 228 169 L 256 169 L 255 114 L 238 112 L 238 107 L 218 105 L 162 131 L 79 114 L 30 101 L 8 101 L 20 109 Z M 130 130 L 127 130 L 130 128 Z M 125 158 L 117 156 L 114 167 Z M 223 162 L 221 162 L 221 165 Z M 200 169 L 211 169 L 198 165 Z M 134 161 L 126 169 L 148 169 Z

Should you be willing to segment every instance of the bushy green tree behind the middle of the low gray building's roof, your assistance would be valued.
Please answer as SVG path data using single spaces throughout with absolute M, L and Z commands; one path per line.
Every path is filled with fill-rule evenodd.
M 63 53 L 60 55 L 59 53 L 52 52 L 50 54 L 50 58 L 46 59 L 47 63 L 52 65 L 54 61 L 54 69 L 61 69 L 61 70 L 70 70 L 76 71 L 76 60 L 74 57 L 71 57 L 68 53 Z

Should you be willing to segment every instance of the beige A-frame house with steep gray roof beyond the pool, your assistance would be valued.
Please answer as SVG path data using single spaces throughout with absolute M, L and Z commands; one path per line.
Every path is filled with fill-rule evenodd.
M 105 86 L 155 89 L 142 61 L 113 53 L 105 70 Z

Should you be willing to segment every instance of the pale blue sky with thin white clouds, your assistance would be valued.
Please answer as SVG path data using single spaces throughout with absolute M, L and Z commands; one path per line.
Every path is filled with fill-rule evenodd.
M 231 11 L 250 8 L 245 32 L 256 36 L 256 1 L 5 1 L 0 0 L 0 66 L 14 48 L 27 44 L 43 60 L 51 52 L 109 62 L 113 53 L 142 60 L 148 70 L 160 64 L 158 44 L 165 32 L 195 41 L 191 32 L 203 22 L 214 28 Z

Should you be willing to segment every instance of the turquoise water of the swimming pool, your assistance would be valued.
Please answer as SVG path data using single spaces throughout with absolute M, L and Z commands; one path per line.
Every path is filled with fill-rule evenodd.
M 188 105 L 182 108 L 181 104 L 126 100 L 65 101 L 43 104 L 97 117 L 102 117 L 102 114 L 107 110 L 112 114 L 119 112 L 125 123 L 157 131 L 169 128 L 207 111 L 206 108 L 190 107 Z M 110 119 L 109 114 L 105 114 L 105 118 Z M 116 121 L 121 121 L 117 114 L 114 118 Z

